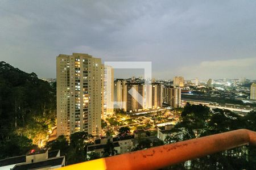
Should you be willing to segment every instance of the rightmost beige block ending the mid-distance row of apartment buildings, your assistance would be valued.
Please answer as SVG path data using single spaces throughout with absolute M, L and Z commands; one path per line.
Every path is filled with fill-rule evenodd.
M 172 108 L 181 107 L 181 88 L 164 87 L 163 101 L 164 103 L 170 105 Z

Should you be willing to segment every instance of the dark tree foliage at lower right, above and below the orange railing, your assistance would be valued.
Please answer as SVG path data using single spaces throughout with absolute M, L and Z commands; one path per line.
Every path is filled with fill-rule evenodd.
M 180 121 L 171 130 L 165 142 L 179 142 L 242 128 L 256 130 L 255 115 L 255 112 L 251 112 L 241 117 L 228 110 L 210 110 L 203 105 L 187 103 L 181 113 Z M 191 160 L 189 167 L 182 163 L 168 169 L 255 169 L 255 157 L 255 148 L 242 146 Z

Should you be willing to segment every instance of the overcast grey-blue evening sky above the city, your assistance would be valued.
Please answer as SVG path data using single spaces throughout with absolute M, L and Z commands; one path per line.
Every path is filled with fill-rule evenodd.
M 151 61 L 156 79 L 256 79 L 255 10 L 254 0 L 2 0 L 0 61 L 55 78 L 56 56 L 75 52 Z

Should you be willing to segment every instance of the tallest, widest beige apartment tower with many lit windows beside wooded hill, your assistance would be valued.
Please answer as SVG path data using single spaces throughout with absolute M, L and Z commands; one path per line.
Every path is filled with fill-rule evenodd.
M 101 132 L 101 59 L 60 54 L 57 65 L 57 135 Z

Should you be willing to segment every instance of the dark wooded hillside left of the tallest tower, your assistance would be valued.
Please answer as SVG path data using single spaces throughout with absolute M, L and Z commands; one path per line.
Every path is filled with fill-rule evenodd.
M 35 73 L 28 74 L 8 63 L 0 62 L 1 146 L 9 146 L 15 140 L 28 139 L 38 145 L 47 138 L 48 130 L 55 126 L 56 120 L 55 89 L 55 84 L 50 86 Z M 31 145 L 27 142 L 28 147 Z M 16 147 L 21 146 L 17 144 Z M 15 154 L 9 155 L 1 150 L 0 155 L 26 154 L 25 148 L 24 151 L 23 148 L 15 148 Z

